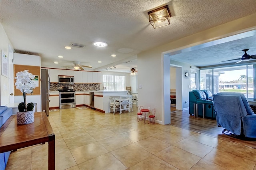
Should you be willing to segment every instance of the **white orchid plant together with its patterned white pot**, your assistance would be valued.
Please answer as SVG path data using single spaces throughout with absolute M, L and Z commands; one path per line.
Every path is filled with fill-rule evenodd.
M 16 89 L 19 89 L 23 94 L 24 102 L 18 105 L 17 123 L 29 124 L 34 122 L 34 103 L 26 104 L 26 94 L 32 94 L 36 84 L 32 81 L 35 75 L 28 73 L 28 70 L 19 71 L 16 73 Z

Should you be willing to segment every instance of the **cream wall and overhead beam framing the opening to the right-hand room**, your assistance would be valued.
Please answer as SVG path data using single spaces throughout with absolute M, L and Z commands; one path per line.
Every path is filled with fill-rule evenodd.
M 138 98 L 140 99 L 138 105 L 156 108 L 156 122 L 161 124 L 170 123 L 169 120 L 164 120 L 168 119 L 165 115 L 170 114 L 170 84 L 164 86 L 164 78 L 169 77 L 170 81 L 170 69 L 164 69 L 170 63 L 164 63 L 166 61 L 164 53 L 254 30 L 256 29 L 255 18 L 256 14 L 253 14 L 139 53 L 137 59 L 140 68 L 138 86 L 142 85 L 142 89 L 138 89 Z M 145 61 L 147 61 L 146 65 Z M 190 67 L 185 65 L 182 70 L 190 70 Z M 182 103 L 184 104 L 188 100 L 190 79 L 182 77 Z M 168 95 L 165 94 L 168 93 L 165 88 L 168 88 Z M 169 106 L 166 107 L 168 104 Z M 186 108 L 186 105 L 182 107 Z

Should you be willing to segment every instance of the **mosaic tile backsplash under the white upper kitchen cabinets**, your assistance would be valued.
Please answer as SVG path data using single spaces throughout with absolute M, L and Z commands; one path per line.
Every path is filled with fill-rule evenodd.
M 82 90 L 100 90 L 99 83 L 74 83 L 70 84 L 59 84 L 59 83 L 51 83 L 50 91 L 57 91 L 59 86 L 73 86 L 74 91 L 82 91 Z

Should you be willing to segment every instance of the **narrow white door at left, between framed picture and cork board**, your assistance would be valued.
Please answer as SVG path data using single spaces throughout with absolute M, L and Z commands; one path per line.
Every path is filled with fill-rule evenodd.
M 14 74 L 13 74 L 13 49 L 8 45 L 9 56 L 9 103 L 14 103 Z

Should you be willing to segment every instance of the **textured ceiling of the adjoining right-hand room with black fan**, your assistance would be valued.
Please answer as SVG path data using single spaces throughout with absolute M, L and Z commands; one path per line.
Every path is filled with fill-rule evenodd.
M 249 55 L 256 55 L 256 30 L 196 45 L 166 55 L 170 55 L 170 59 L 174 61 L 206 67 L 220 64 L 226 65 L 228 63 L 234 64 L 240 61 L 241 57 L 237 56 L 244 55 L 243 49 L 249 49 L 247 51 Z M 226 61 L 230 59 L 238 60 Z M 256 60 L 253 59 L 253 61 Z

